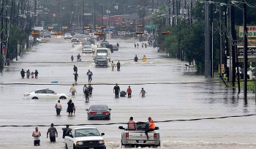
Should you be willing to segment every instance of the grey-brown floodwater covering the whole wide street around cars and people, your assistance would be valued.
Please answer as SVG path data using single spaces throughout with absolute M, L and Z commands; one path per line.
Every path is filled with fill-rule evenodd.
M 0 148 L 34 148 L 34 127 L 39 126 L 42 136 L 37 148 L 64 148 L 61 128 L 56 126 L 59 137 L 50 143 L 46 132 L 50 123 L 56 125 L 85 124 L 95 126 L 105 133 L 107 148 L 120 148 L 121 130 L 114 125 L 94 125 L 126 123 L 129 117 L 135 121 L 147 121 L 150 116 L 156 123 L 161 136 L 161 148 L 256 148 L 255 116 L 208 119 L 200 121 L 175 121 L 197 118 L 219 118 L 233 115 L 255 114 L 255 95 L 249 93 L 245 102 L 243 93 L 225 88 L 201 75 L 195 69 L 185 69 L 187 62 L 165 58 L 153 47 L 135 48 L 134 39 L 108 39 L 110 44 L 120 44 L 119 50 L 111 53 L 111 60 L 120 61 L 121 71 L 96 68 L 91 54 L 82 54 L 80 47 L 72 47 L 69 39 L 50 39 L 50 42 L 34 46 L 18 61 L 12 63 L 0 77 Z M 70 56 L 80 53 L 82 62 L 71 62 Z M 133 58 L 138 55 L 139 62 Z M 146 56 L 147 62 L 142 62 Z M 69 93 L 74 83 L 73 65 L 78 66 L 78 93 L 72 99 L 76 106 L 73 116 L 68 116 L 67 100 L 61 100 L 63 111 L 56 116 L 54 99 L 23 99 L 23 93 L 39 88 L 51 88 L 60 93 Z M 21 79 L 20 70 L 39 71 L 38 79 Z M 94 73 L 93 96 L 89 102 L 83 98 L 83 85 L 88 83 L 86 72 Z M 52 81 L 58 81 L 52 84 Z M 118 83 L 121 91 L 128 85 L 132 88 L 132 98 L 114 98 L 113 87 Z M 146 90 L 142 98 L 140 89 Z M 108 104 L 112 109 L 111 120 L 87 120 L 86 108 L 91 104 Z M 20 127 L 12 127 L 18 125 Z M 29 126 L 27 126 L 29 125 Z M 8 127 L 3 127 L 8 126 Z M 10 126 L 10 127 L 9 127 Z M 76 126 L 70 126 L 74 128 Z

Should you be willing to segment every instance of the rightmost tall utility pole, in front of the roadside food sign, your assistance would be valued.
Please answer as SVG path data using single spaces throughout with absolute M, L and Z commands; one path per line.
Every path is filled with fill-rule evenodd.
M 247 15 L 246 15 L 246 1 L 244 0 L 244 100 L 247 101 L 247 64 L 248 64 L 248 56 L 247 56 Z

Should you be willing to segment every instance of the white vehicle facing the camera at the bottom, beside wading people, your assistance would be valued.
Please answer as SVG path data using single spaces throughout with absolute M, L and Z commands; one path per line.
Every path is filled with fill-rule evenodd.
M 70 131 L 69 136 L 65 136 L 64 142 L 67 149 L 73 148 L 97 148 L 106 149 L 103 140 L 104 133 L 99 134 L 94 127 L 75 128 Z

